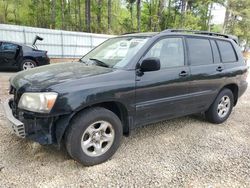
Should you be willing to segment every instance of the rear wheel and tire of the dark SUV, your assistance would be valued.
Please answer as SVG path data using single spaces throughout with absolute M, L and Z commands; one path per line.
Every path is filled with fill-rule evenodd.
M 229 103 L 226 101 L 229 101 Z M 223 123 L 231 114 L 233 106 L 234 96 L 232 91 L 230 89 L 223 89 L 210 108 L 205 112 L 206 119 L 215 124 Z

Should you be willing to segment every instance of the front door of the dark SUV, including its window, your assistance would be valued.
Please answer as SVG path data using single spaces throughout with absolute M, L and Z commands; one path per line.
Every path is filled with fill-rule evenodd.
M 136 78 L 136 124 L 183 115 L 188 101 L 189 67 L 185 63 L 182 37 L 158 40 L 146 58 L 159 58 L 161 69 Z

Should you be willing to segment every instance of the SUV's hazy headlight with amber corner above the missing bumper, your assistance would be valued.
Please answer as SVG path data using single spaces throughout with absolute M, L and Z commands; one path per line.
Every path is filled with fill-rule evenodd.
M 32 112 L 48 113 L 53 108 L 57 93 L 24 93 L 18 103 L 18 108 Z

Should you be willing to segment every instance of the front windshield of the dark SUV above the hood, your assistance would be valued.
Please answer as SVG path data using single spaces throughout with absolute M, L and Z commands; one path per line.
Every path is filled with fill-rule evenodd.
M 122 68 L 129 63 L 148 39 L 148 37 L 112 38 L 96 47 L 84 56 L 81 61 L 87 64 L 94 61 L 97 65 Z

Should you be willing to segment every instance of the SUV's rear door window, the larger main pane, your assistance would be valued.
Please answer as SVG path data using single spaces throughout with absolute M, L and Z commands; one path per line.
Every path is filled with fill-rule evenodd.
M 212 49 L 209 40 L 187 38 L 187 45 L 191 65 L 207 65 L 213 63 Z

